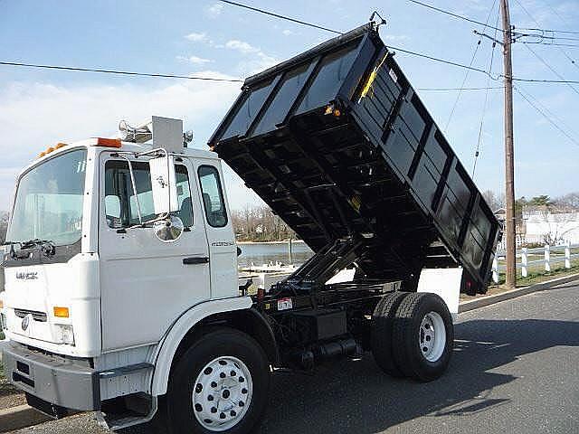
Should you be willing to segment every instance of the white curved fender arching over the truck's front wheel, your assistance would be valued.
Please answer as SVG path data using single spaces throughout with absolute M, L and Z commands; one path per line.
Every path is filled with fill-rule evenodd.
M 191 327 L 207 316 L 234 310 L 249 309 L 252 307 L 252 304 L 252 297 L 222 298 L 204 301 L 185 311 L 171 326 L 154 357 L 155 371 L 151 379 L 151 395 L 157 396 L 166 393 L 173 357 L 176 354 L 177 347 L 187 332 L 191 330 Z

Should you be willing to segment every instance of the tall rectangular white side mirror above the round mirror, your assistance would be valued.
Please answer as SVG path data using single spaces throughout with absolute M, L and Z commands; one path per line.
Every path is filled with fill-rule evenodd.
M 155 213 L 168 214 L 179 211 L 175 161 L 173 156 L 159 156 L 148 162 L 151 173 L 153 207 Z

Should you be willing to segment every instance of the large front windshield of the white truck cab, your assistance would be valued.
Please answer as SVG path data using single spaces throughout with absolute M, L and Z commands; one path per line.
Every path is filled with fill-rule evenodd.
M 20 178 L 7 241 L 39 239 L 64 246 L 81 239 L 86 156 L 86 149 L 71 151 Z

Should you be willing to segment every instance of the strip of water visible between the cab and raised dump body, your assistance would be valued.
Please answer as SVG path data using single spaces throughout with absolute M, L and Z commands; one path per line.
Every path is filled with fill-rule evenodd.
M 251 244 L 238 244 L 242 254 L 237 259 L 240 267 L 261 265 L 276 261 L 289 264 L 289 247 L 287 241 L 281 242 L 255 242 Z M 305 242 L 291 243 L 292 259 L 296 265 L 303 264 L 314 252 L 308 248 Z

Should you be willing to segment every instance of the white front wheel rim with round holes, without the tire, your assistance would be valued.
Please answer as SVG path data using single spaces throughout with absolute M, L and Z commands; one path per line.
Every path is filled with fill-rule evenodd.
M 192 400 L 195 418 L 205 429 L 230 429 L 249 409 L 252 374 L 236 357 L 217 357 L 197 376 Z

